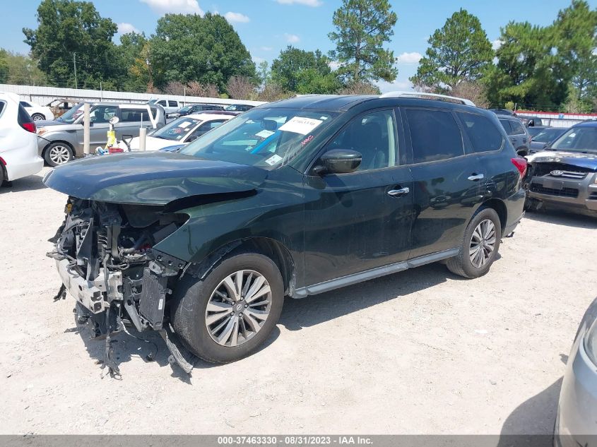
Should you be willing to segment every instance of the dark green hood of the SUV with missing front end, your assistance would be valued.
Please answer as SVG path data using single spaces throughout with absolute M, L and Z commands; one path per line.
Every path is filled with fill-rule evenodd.
M 267 173 L 177 153 L 124 153 L 66 163 L 49 172 L 44 184 L 87 200 L 166 205 L 189 196 L 252 191 Z

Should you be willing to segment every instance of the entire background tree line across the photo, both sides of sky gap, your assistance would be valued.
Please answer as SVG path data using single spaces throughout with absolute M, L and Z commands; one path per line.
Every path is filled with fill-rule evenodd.
M 324 54 L 288 46 L 256 66 L 218 14 L 166 14 L 151 35 L 129 32 L 90 1 L 43 0 L 27 56 L 0 49 L 0 83 L 278 100 L 295 94 L 379 93 L 398 75 L 385 46 L 398 17 L 389 0 L 343 0 Z M 548 26 L 507 23 L 490 42 L 464 9 L 428 40 L 415 90 L 467 97 L 482 107 L 597 110 L 597 10 L 572 0 Z

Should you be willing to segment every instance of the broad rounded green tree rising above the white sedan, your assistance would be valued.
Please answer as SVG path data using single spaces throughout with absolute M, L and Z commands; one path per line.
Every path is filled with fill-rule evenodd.
M 232 25 L 218 14 L 166 14 L 150 40 L 155 85 L 170 81 L 215 84 L 232 76 L 256 80 L 255 64 Z

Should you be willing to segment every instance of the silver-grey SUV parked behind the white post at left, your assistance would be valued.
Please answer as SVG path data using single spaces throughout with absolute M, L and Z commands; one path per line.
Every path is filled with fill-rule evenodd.
M 40 156 L 50 166 L 62 165 L 74 157 L 83 157 L 83 108 L 71 123 L 42 121 L 37 128 L 37 148 Z M 160 105 L 116 104 L 96 102 L 90 109 L 90 150 L 107 143 L 110 118 L 118 117 L 114 125 L 116 139 L 139 135 L 139 129 L 159 129 L 166 124 L 166 116 Z

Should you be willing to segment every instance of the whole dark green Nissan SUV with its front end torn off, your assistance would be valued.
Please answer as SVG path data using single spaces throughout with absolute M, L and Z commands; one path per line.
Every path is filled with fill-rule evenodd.
M 485 275 L 523 215 L 526 161 L 495 114 L 417 95 L 295 97 L 179 153 L 54 169 L 45 184 L 69 199 L 49 256 L 78 316 L 232 362 L 265 342 L 285 296 L 435 261 Z

